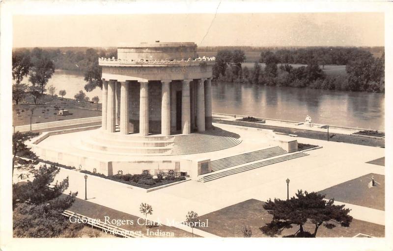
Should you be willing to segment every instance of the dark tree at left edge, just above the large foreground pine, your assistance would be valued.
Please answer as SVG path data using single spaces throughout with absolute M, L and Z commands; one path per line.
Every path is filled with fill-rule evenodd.
M 33 132 L 27 132 L 27 133 L 21 133 L 19 131 L 15 132 L 12 135 L 12 175 L 14 175 L 14 168 L 15 165 L 19 165 L 19 167 L 22 167 L 27 164 L 37 164 L 37 159 L 38 157 L 28 148 L 25 144 L 25 141 L 28 140 L 31 137 L 37 136 L 38 133 L 33 133 Z M 23 158 L 19 157 L 26 157 L 31 159 L 25 160 Z

